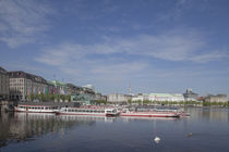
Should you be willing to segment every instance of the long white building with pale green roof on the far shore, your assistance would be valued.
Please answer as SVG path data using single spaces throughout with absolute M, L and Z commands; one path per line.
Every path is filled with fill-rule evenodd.
M 171 102 L 181 102 L 184 101 L 183 94 L 180 93 L 149 93 L 149 101 L 171 101 Z

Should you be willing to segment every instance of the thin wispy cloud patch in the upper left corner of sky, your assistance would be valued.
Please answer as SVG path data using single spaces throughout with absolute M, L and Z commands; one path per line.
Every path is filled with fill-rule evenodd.
M 35 0 L 0 1 L 0 41 L 15 48 L 34 42 L 37 34 L 47 30 L 47 15 L 53 11 L 45 3 Z

